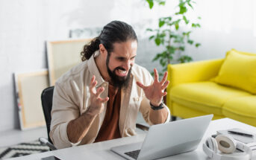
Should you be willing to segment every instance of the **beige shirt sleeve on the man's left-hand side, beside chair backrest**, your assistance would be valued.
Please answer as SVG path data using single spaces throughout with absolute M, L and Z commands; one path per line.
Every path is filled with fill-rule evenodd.
M 66 127 L 69 121 L 78 118 L 79 114 L 78 106 L 66 95 L 60 84 L 55 83 L 51 109 L 50 138 L 57 149 L 72 147 L 72 143 L 67 136 Z

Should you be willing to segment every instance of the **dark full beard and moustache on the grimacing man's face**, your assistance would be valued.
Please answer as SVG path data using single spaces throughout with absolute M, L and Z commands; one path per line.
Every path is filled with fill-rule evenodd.
M 110 75 L 110 78 L 111 78 L 111 85 L 115 86 L 115 87 L 119 87 L 119 88 L 122 88 L 122 87 L 127 88 L 128 84 L 130 82 L 130 79 L 131 79 L 130 77 L 131 77 L 131 68 L 132 68 L 132 66 L 129 69 L 127 76 L 120 77 L 120 76 L 116 75 L 116 70 L 121 69 L 121 70 L 125 71 L 125 68 L 116 67 L 116 68 L 113 69 L 113 71 L 111 71 L 110 68 L 108 67 L 109 57 L 110 57 L 110 55 L 107 54 L 106 65 L 107 65 L 107 72 L 108 72 L 108 74 Z

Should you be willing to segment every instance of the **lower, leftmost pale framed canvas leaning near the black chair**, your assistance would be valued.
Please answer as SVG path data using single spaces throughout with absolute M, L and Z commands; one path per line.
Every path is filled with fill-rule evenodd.
M 49 87 L 47 69 L 26 73 L 15 73 L 16 100 L 22 130 L 46 125 L 41 103 L 43 89 Z

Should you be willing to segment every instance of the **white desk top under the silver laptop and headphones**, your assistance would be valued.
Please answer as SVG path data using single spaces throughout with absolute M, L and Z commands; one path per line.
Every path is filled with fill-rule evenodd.
M 238 121 L 231 120 L 229 118 L 223 118 L 216 121 L 211 121 L 210 126 L 205 133 L 204 138 L 202 139 L 201 143 L 197 150 L 190 152 L 190 153 L 183 153 L 176 156 L 169 156 L 163 159 L 199 159 L 205 160 L 207 156 L 202 150 L 202 144 L 205 143 L 205 139 L 216 133 L 216 130 L 221 129 L 231 129 L 231 128 L 240 128 L 246 129 L 248 131 L 256 132 L 256 127 L 249 126 L 247 124 L 240 123 Z M 116 155 L 110 151 L 110 147 L 119 146 L 122 144 L 129 144 L 138 141 L 143 141 L 146 134 L 140 134 L 128 138 L 118 138 L 110 141 L 99 142 L 95 144 L 87 144 L 78 147 L 70 147 L 62 150 L 54 150 L 49 151 L 46 153 L 37 153 L 29 156 L 23 156 L 18 158 L 13 158 L 15 160 L 18 159 L 26 159 L 26 160 L 36 160 L 41 159 L 47 156 L 57 156 L 62 160 L 68 159 L 123 159 L 121 156 Z

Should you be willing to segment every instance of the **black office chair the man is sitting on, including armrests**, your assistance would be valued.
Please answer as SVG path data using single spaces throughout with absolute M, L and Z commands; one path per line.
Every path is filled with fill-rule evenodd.
M 57 150 L 56 147 L 52 144 L 51 138 L 49 136 L 50 127 L 51 127 L 51 107 L 52 107 L 52 97 L 53 97 L 54 86 L 50 86 L 43 90 L 41 95 L 41 101 L 43 106 L 43 115 L 46 119 L 47 135 L 46 138 L 40 137 L 39 141 L 41 144 L 50 147 L 51 150 Z M 142 129 L 143 131 L 148 131 L 149 127 L 144 126 L 143 124 L 136 124 L 136 127 Z

